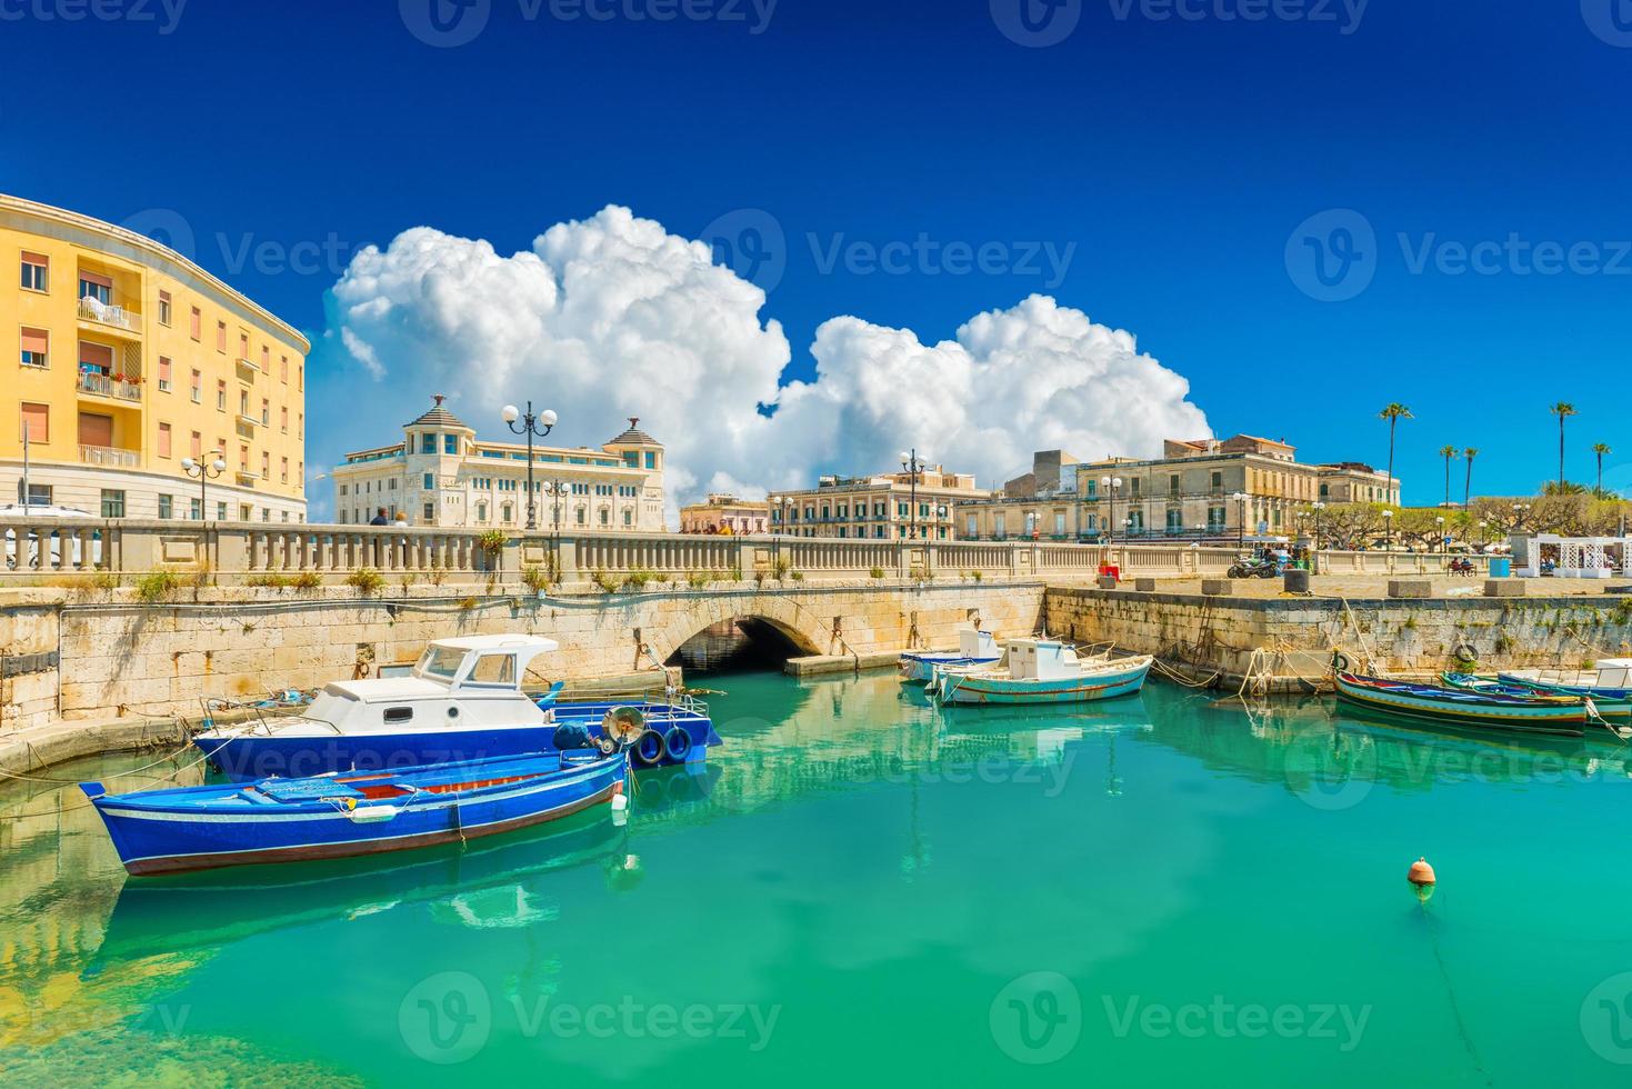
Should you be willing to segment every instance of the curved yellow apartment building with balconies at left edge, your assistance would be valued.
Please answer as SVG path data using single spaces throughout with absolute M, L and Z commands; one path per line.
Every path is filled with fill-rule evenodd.
M 0 194 L 0 503 L 305 521 L 294 328 L 135 232 Z M 184 459 L 225 462 L 201 496 Z

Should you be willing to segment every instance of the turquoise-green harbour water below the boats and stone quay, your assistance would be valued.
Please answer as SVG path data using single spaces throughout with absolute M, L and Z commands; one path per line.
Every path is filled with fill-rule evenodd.
M 726 745 L 705 774 L 643 776 L 627 826 L 390 865 L 126 882 L 77 790 L 11 784 L 0 1076 L 1632 1073 L 1632 782 L 1614 741 L 1514 748 L 1155 684 L 1031 713 L 937 712 L 891 674 L 713 682 Z M 1441 882 L 1426 905 L 1404 880 L 1423 854 Z

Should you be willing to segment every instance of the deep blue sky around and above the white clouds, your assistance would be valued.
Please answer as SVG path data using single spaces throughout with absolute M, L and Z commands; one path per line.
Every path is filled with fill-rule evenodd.
M 930 343 L 1040 292 L 1136 335 L 1221 434 L 1381 465 L 1377 408 L 1408 403 L 1407 501 L 1439 500 L 1446 442 L 1482 449 L 1475 491 L 1534 488 L 1554 400 L 1570 473 L 1604 441 L 1632 487 L 1599 392 L 1632 289 L 1621 0 L 437 0 L 450 36 L 480 26 L 452 47 L 423 41 L 431 0 L 108 2 L 0 0 L 0 189 L 181 222 L 313 340 L 351 255 L 408 227 L 508 255 L 605 204 L 684 237 L 762 209 L 782 240 L 739 271 L 785 379 L 834 315 Z M 563 18 L 584 3 L 610 18 Z M 920 237 L 935 256 L 867 260 Z M 359 429 L 356 369 L 313 371 L 313 462 L 424 400 L 380 384 L 390 424 Z

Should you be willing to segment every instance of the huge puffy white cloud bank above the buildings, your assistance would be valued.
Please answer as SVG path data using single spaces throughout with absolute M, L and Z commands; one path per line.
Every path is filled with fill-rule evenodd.
M 1209 434 L 1182 376 L 1049 297 L 934 344 L 831 318 L 811 344 L 816 377 L 788 385 L 788 341 L 764 304 L 705 243 L 609 206 L 511 256 L 429 227 L 369 247 L 333 287 L 325 344 L 338 333 L 339 362 L 403 420 L 442 392 L 498 438 L 499 408 L 530 395 L 561 416 L 550 442 L 599 446 L 640 416 L 667 446 L 679 501 L 888 469 L 912 444 L 987 485 L 1028 469 L 1033 449 L 1155 454 L 1167 436 Z M 315 454 L 392 438 L 356 433 L 349 407 L 330 426 Z

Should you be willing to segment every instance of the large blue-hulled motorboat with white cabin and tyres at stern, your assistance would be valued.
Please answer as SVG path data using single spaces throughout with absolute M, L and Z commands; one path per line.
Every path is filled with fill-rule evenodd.
M 539 635 L 436 640 L 408 676 L 335 681 L 299 715 L 212 727 L 193 743 L 235 782 L 548 753 L 563 727 L 604 738 L 614 713 L 645 725 L 640 766 L 698 761 L 720 743 L 708 709 L 685 697 L 558 704 L 557 684 L 534 699 L 521 684 L 527 663 L 557 648 Z

